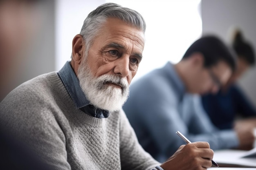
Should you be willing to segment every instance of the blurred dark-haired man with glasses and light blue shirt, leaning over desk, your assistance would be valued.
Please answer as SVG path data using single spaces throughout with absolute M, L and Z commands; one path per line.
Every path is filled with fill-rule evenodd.
M 184 144 L 176 131 L 193 142 L 209 142 L 213 150 L 252 147 L 250 129 L 218 130 L 201 106 L 199 95 L 216 93 L 235 66 L 234 53 L 208 35 L 195 41 L 177 64 L 168 62 L 134 82 L 123 109 L 144 149 L 164 161 Z

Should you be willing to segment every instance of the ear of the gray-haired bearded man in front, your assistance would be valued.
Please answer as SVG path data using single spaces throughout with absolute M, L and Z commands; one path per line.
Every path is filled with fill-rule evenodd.
M 74 64 L 80 64 L 83 57 L 83 50 L 85 48 L 85 44 L 83 41 L 83 37 L 80 34 L 77 34 L 73 38 L 72 42 L 72 60 Z

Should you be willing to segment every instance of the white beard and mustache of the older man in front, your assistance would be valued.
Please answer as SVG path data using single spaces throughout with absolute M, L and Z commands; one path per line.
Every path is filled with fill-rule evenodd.
M 118 111 L 128 98 L 129 84 L 124 77 L 108 74 L 94 77 L 87 59 L 79 66 L 77 77 L 86 98 L 97 108 L 110 112 Z M 108 82 L 118 84 L 121 88 L 106 84 Z

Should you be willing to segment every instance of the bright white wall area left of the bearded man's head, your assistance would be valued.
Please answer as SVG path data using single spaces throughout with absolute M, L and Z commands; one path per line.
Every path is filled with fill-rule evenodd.
M 60 70 L 72 52 L 72 40 L 79 34 L 87 15 L 105 0 L 56 0 L 56 70 Z

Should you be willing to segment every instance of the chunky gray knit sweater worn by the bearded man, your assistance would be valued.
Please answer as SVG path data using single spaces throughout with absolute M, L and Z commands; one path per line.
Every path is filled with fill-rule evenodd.
M 139 145 L 123 110 L 106 119 L 83 113 L 56 72 L 9 93 L 0 103 L 0 126 L 54 170 L 150 170 L 159 165 Z

